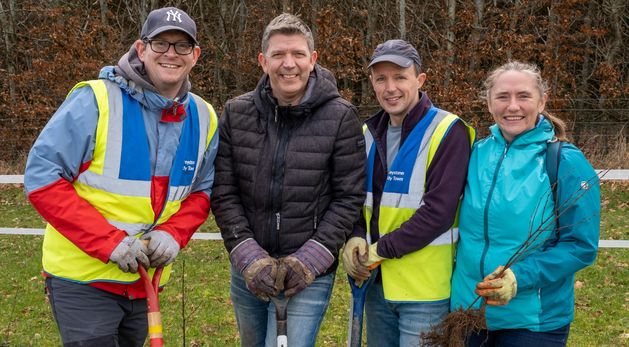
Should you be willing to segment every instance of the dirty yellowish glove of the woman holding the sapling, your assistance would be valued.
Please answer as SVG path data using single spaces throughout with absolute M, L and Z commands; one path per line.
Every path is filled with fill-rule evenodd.
M 485 297 L 488 305 L 503 306 L 509 303 L 518 291 L 518 282 L 511 269 L 498 266 L 494 272 L 490 273 L 482 282 L 476 284 L 475 293 Z M 500 274 L 500 277 L 498 277 Z

